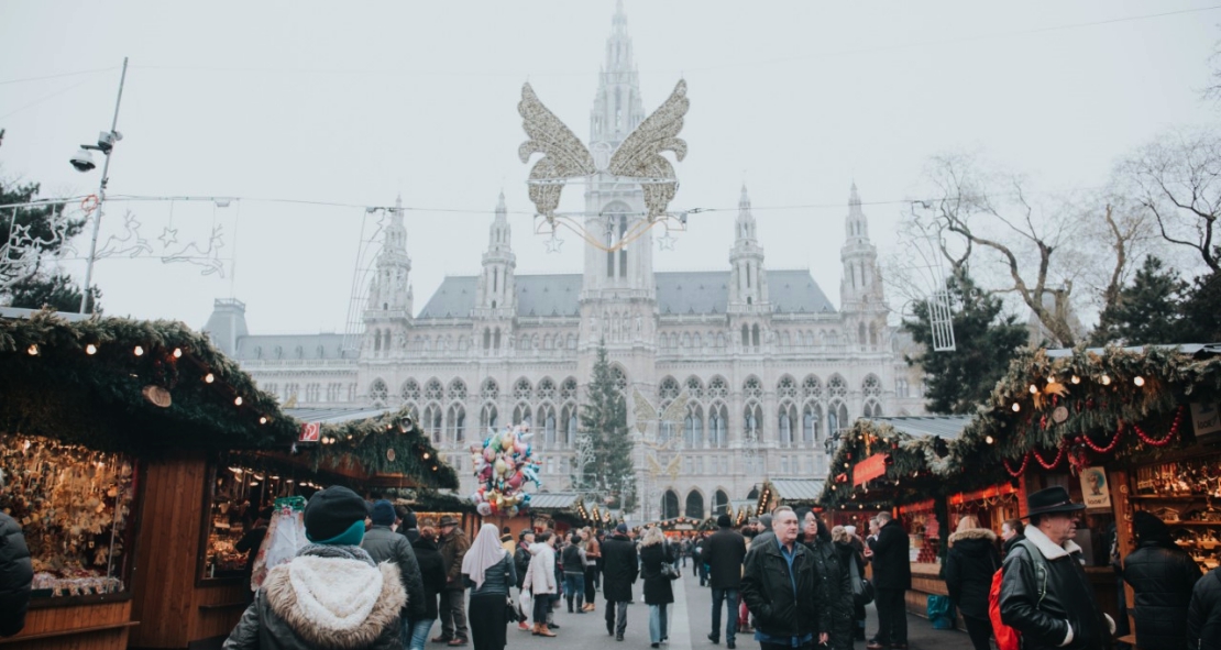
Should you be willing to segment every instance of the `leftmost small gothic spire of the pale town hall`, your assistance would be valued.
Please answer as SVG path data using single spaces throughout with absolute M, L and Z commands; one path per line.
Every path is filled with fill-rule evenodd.
M 389 225 L 377 254 L 365 309 L 365 354 L 374 358 L 403 352 L 411 321 L 411 258 L 407 257 L 403 195 L 394 199 Z

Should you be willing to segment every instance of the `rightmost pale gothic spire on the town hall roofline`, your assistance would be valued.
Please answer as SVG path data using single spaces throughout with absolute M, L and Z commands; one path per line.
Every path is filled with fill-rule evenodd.
M 847 200 L 844 222 L 846 239 L 840 248 L 844 275 L 840 280 L 840 310 L 847 340 L 866 349 L 877 349 L 886 340 L 886 302 L 878 270 L 878 249 L 869 242 L 869 222 L 861 209 L 856 183 Z

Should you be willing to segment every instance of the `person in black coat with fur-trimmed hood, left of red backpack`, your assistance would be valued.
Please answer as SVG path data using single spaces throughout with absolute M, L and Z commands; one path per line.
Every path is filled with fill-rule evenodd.
M 1000 568 L 996 533 L 979 528 L 973 514 L 958 519 L 957 530 L 950 535 L 945 557 L 945 586 L 950 600 L 958 606 L 967 633 L 976 650 L 988 650 L 991 621 L 988 618 L 988 591 L 991 577 Z

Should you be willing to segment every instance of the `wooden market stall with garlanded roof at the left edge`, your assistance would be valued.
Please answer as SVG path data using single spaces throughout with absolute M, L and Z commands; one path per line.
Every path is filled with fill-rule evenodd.
M 270 396 L 178 323 L 2 309 L 0 395 L 11 478 L 0 508 L 21 523 L 37 568 L 26 628 L 0 641 L 15 649 L 120 649 L 158 627 L 145 599 L 192 596 L 151 561 L 193 549 L 199 498 L 176 497 L 204 484 L 181 474 L 183 458 L 292 433 Z

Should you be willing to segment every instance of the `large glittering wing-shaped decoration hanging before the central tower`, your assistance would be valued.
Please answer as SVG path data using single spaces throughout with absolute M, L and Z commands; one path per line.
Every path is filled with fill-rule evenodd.
M 542 235 L 549 231 L 554 237 L 556 227 L 564 226 L 590 246 L 613 252 L 661 222 L 667 222 L 674 230 L 685 230 L 685 215 L 680 220 L 667 211 L 678 191 L 678 177 L 674 175 L 674 165 L 661 154 L 672 152 L 679 161 L 686 158 L 686 142 L 678 134 L 690 105 L 686 81 L 679 81 L 670 97 L 623 141 L 608 160 L 604 156 L 595 159 L 580 138 L 538 100 L 534 88 L 529 83 L 524 84 L 518 112 L 530 139 L 518 148 L 518 156 L 523 162 L 529 162 L 531 155 L 543 154 L 530 169 L 527 181 L 530 200 L 542 217 L 535 232 Z M 584 213 L 564 215 L 556 211 L 564 184 L 578 180 L 589 181 L 598 173 L 636 183 L 643 191 L 646 213 L 632 219 L 626 232 L 617 241 L 603 241 L 601 233 L 587 228 Z M 670 226 L 670 221 L 676 225 Z

